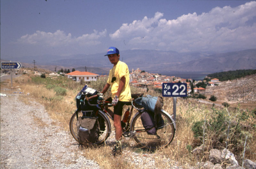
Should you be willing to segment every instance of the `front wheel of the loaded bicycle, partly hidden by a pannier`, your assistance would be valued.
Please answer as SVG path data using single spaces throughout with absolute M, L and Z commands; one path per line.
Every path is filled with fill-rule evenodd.
M 78 117 L 83 116 L 83 112 L 82 111 L 78 111 Z M 98 121 L 100 123 L 100 127 L 99 127 L 99 139 L 92 144 L 102 144 L 105 142 L 105 140 L 109 137 L 110 132 L 111 132 L 111 125 L 109 122 L 108 117 L 105 116 L 105 114 L 101 111 L 98 111 Z M 77 123 L 77 116 L 76 116 L 76 112 L 71 116 L 70 122 L 69 122 L 69 129 L 70 132 L 72 134 L 72 136 L 76 139 L 76 141 L 79 142 L 78 138 L 77 138 L 77 134 L 78 134 L 78 126 L 76 126 Z

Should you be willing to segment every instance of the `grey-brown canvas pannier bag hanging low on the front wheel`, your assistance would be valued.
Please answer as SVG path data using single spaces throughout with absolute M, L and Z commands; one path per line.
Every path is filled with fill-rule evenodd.
M 78 117 L 76 123 L 78 133 L 77 139 L 79 143 L 95 143 L 99 139 L 99 127 L 97 117 Z

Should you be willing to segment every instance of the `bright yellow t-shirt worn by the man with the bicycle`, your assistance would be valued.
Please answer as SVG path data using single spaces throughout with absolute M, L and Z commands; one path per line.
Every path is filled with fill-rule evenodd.
M 112 99 L 115 97 L 121 78 L 124 76 L 125 85 L 121 91 L 119 100 L 122 102 L 132 102 L 131 89 L 129 86 L 129 75 L 128 66 L 120 60 L 117 62 L 116 66 L 110 69 L 107 83 L 111 86 Z M 112 77 L 116 77 L 116 80 L 113 83 L 111 83 Z

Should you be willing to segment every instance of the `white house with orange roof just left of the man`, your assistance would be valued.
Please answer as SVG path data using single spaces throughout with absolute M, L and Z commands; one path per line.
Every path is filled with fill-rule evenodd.
M 68 76 L 68 78 L 73 78 L 76 79 L 76 81 L 81 81 L 82 79 L 84 81 L 97 81 L 97 76 L 99 76 L 99 74 L 94 74 L 91 72 L 80 72 L 80 71 L 74 71 L 74 72 L 70 72 L 68 74 L 65 74 L 65 76 Z

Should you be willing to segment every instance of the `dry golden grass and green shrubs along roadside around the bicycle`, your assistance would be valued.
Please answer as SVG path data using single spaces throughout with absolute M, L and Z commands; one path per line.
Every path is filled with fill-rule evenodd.
M 101 91 L 106 81 L 107 79 L 98 79 L 90 82 L 88 86 Z M 1 82 L 1 89 L 10 87 L 10 83 L 10 81 Z M 20 91 L 25 94 L 20 96 L 21 100 L 29 104 L 29 99 L 32 98 L 43 104 L 55 124 L 60 125 L 68 132 L 70 117 L 76 110 L 75 96 L 84 85 L 85 82 L 83 81 L 77 83 L 63 76 L 49 77 L 47 74 L 45 77 L 25 74 L 13 82 L 14 88 L 20 88 Z M 132 86 L 131 90 L 132 93 L 162 95 L 159 91 L 148 90 L 146 93 Z M 108 98 L 109 96 L 110 90 L 104 97 Z M 164 98 L 163 109 L 172 114 L 173 102 L 171 97 Z M 177 131 L 172 143 L 164 149 L 151 152 L 140 148 L 130 148 L 131 139 L 125 140 L 127 146 L 124 148 L 124 155 L 116 157 L 116 160 L 113 160 L 112 145 L 109 143 L 84 148 L 77 146 L 77 150 L 74 151 L 82 151 L 86 158 L 95 160 L 102 168 L 133 168 L 131 163 L 124 158 L 129 157 L 133 152 L 146 156 L 153 153 L 154 156 L 152 157 L 157 168 L 166 168 L 167 158 L 172 160 L 170 163 L 178 162 L 178 165 L 184 168 L 188 165 L 195 166 L 197 162 L 209 160 L 209 151 L 213 148 L 219 150 L 227 148 L 235 154 L 240 166 L 242 166 L 244 150 L 245 158 L 252 161 L 256 160 L 256 109 L 252 111 L 241 110 L 239 106 L 236 109 L 229 109 L 228 103 L 225 103 L 225 107 L 222 108 L 208 107 L 194 102 L 191 98 L 178 98 L 176 109 Z M 111 128 L 114 132 L 113 124 Z M 244 147 L 245 138 L 247 138 L 247 142 Z M 204 151 L 197 155 L 193 154 L 193 149 L 202 144 L 205 146 Z

